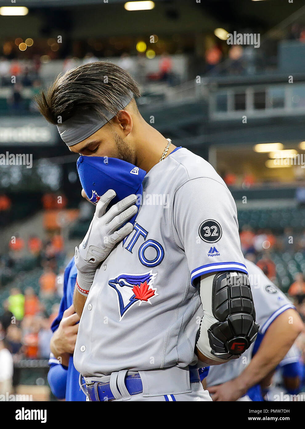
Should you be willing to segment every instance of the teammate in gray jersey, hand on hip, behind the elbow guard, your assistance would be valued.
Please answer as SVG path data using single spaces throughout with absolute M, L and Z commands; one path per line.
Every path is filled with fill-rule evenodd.
M 262 401 L 260 382 L 284 359 L 304 329 L 287 297 L 254 263 L 245 260 L 260 330 L 239 360 L 210 367 L 206 386 L 213 401 Z

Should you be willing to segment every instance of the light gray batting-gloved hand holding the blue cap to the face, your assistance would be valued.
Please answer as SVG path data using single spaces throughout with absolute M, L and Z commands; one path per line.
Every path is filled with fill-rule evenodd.
M 91 221 L 89 230 L 79 247 L 75 248 L 75 265 L 81 272 L 94 272 L 97 267 L 110 254 L 114 246 L 128 236 L 133 225 L 129 222 L 124 225 L 138 208 L 135 204 L 137 196 L 132 194 L 113 205 L 107 213 L 105 210 L 116 196 L 110 189 L 101 196 L 96 204 L 96 211 Z

